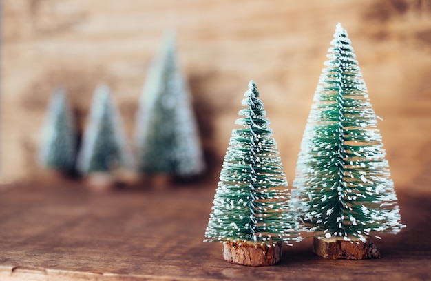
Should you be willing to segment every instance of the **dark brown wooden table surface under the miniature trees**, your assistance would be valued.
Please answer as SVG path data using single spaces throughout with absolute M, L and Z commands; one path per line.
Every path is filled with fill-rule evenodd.
M 407 228 L 375 241 L 380 259 L 327 260 L 306 239 L 284 247 L 280 264 L 244 267 L 224 262 L 221 244 L 202 242 L 212 184 L 0 189 L 0 280 L 431 280 L 430 196 L 398 194 Z

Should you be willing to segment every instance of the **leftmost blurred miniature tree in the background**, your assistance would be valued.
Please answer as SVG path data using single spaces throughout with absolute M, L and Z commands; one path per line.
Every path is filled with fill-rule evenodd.
M 54 91 L 41 138 L 40 163 L 53 170 L 72 172 L 76 158 L 76 131 L 63 88 Z

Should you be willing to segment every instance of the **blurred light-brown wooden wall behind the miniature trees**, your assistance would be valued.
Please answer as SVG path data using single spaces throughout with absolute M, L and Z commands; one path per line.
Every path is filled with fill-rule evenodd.
M 396 189 L 431 180 L 430 0 L 3 0 L 1 180 L 34 176 L 45 108 L 66 87 L 80 128 L 98 83 L 127 136 L 163 32 L 178 58 L 218 176 L 247 83 L 260 89 L 289 183 L 335 25 L 348 30 Z

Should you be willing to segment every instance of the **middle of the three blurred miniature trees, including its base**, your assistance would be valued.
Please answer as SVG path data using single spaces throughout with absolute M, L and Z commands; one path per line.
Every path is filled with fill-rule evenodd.
M 77 169 L 111 185 L 113 173 L 130 167 L 131 158 L 121 129 L 120 115 L 110 98 L 109 87 L 100 85 L 94 93 Z M 98 183 L 95 183 L 98 185 Z

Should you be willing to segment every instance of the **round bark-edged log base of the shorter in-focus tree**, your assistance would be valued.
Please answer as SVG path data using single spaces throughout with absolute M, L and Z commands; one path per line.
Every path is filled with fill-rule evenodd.
M 234 264 L 253 267 L 273 265 L 280 262 L 281 256 L 282 242 L 269 245 L 254 242 L 223 242 L 223 258 Z

